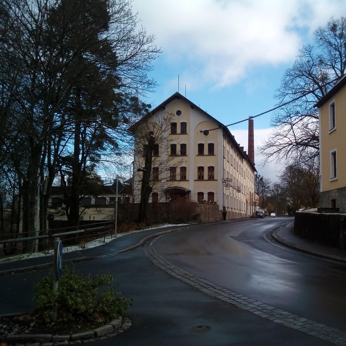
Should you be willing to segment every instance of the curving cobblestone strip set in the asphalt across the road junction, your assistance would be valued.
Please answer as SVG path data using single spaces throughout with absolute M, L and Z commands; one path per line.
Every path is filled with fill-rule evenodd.
M 160 255 L 153 245 L 154 242 L 155 240 L 144 248 L 147 257 L 155 265 L 177 279 L 188 283 L 194 288 L 197 288 L 212 297 L 218 298 L 226 303 L 252 312 L 257 316 L 266 318 L 280 325 L 297 329 L 302 333 L 316 336 L 336 345 L 346 345 L 345 331 L 326 326 L 316 321 L 308 320 L 304 317 L 293 315 L 288 311 L 277 309 L 274 306 L 251 299 L 237 292 L 230 291 L 208 280 L 204 280 L 197 275 L 191 274 Z

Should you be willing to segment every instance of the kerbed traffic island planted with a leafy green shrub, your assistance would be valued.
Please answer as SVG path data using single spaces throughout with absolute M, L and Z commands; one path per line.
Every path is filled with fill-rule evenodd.
M 131 326 L 121 316 L 133 299 L 121 296 L 112 275 L 84 276 L 73 268 L 61 273 L 61 261 L 57 261 L 53 274 L 34 284 L 32 312 L 0 317 L 1 346 L 81 343 L 115 336 Z

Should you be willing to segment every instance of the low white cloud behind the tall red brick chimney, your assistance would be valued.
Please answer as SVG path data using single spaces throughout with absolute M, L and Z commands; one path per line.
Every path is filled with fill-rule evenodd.
M 247 152 L 248 131 L 232 129 L 230 129 L 230 131 L 232 135 L 234 135 L 237 143 L 239 143 L 241 146 L 244 146 L 244 150 Z M 272 182 L 276 182 L 278 180 L 277 174 L 280 173 L 283 165 L 278 162 L 269 162 L 262 166 L 261 164 L 263 162 L 263 156 L 259 153 L 258 149 L 258 147 L 263 144 L 264 140 L 267 139 L 273 131 L 273 127 L 265 129 L 254 129 L 255 165 L 258 174 L 269 178 Z

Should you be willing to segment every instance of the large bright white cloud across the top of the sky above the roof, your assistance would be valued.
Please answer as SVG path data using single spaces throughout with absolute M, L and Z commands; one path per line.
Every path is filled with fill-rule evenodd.
M 133 9 L 156 34 L 167 66 L 179 66 L 197 87 L 229 85 L 254 66 L 290 62 L 301 45 L 296 29 L 311 33 L 344 13 L 346 2 L 135 0 Z

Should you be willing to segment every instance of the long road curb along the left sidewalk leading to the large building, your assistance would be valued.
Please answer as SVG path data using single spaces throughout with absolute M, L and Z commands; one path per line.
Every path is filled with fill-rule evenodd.
M 143 246 L 143 244 L 145 244 L 146 242 L 148 242 L 149 240 L 156 238 L 160 235 L 163 234 L 167 234 L 167 233 L 171 233 L 174 231 L 181 231 L 184 229 L 189 229 L 189 228 L 193 228 L 193 227 L 203 227 L 203 226 L 212 226 L 212 225 L 218 225 L 218 224 L 230 224 L 233 222 L 243 222 L 243 221 L 251 221 L 251 220 L 256 220 L 256 219 L 246 219 L 244 220 L 243 218 L 241 220 L 237 220 L 237 219 L 233 219 L 233 220 L 226 220 L 226 221 L 212 221 L 212 222 L 208 222 L 208 223 L 202 223 L 202 224 L 192 224 L 189 226 L 185 226 L 185 227 L 181 227 L 181 228 L 173 228 L 173 229 L 168 229 L 166 231 L 162 231 L 162 232 L 158 232 L 158 233 L 154 233 L 152 235 L 149 235 L 145 238 L 143 238 L 142 240 L 140 240 L 137 244 L 129 246 L 119 252 L 115 252 L 112 254 L 107 254 L 107 255 L 100 255 L 100 256 L 92 256 L 92 257 L 78 257 L 78 258 L 73 258 L 72 260 L 65 260 L 63 261 L 64 264 L 72 264 L 72 263 L 78 263 L 78 262 L 84 262 L 84 261 L 90 261 L 90 260 L 95 260 L 97 258 L 103 258 L 103 257 L 108 257 L 108 256 L 114 256 L 117 254 L 121 254 L 124 252 L 129 252 L 132 250 L 135 250 L 141 246 Z M 29 267 L 22 267 L 22 268 L 16 268 L 16 269 L 8 269 L 8 270 L 3 270 L 0 271 L 0 276 L 4 276 L 4 275 L 11 275 L 11 274 L 18 274 L 18 273 L 24 273 L 24 272 L 28 272 L 28 271 L 34 271 L 34 270 L 40 270 L 40 269 L 45 269 L 45 268 L 50 268 L 53 266 L 53 263 L 43 263 L 43 264 L 38 264 L 35 266 L 29 266 Z

